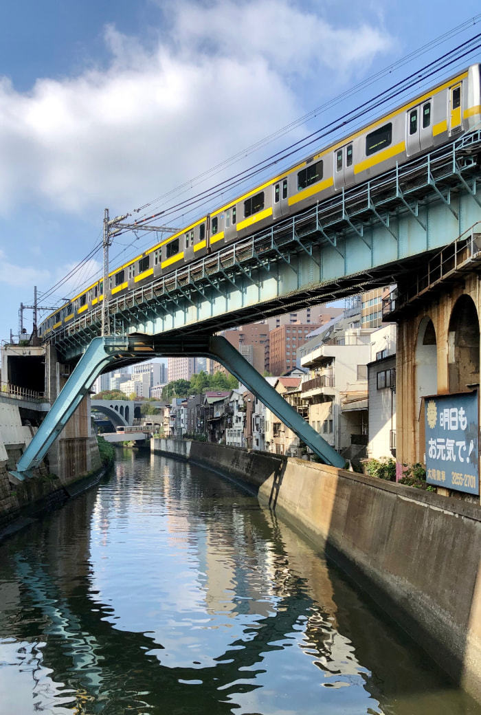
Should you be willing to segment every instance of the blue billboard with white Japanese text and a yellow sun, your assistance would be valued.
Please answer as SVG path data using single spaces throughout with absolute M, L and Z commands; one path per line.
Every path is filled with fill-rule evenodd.
M 425 398 L 426 481 L 480 493 L 477 390 Z

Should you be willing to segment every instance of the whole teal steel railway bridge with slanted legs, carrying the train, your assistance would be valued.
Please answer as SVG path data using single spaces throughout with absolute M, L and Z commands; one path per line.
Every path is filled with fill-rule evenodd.
M 481 220 L 481 127 L 109 301 L 50 338 L 76 366 L 14 473 L 28 477 L 94 379 L 157 355 L 222 363 L 324 463 L 344 461 L 220 330 L 397 283 Z

